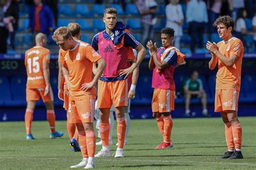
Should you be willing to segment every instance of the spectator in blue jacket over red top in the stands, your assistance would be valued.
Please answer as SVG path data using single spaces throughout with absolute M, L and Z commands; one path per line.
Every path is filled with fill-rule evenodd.
M 30 8 L 29 29 L 36 35 L 39 32 L 49 34 L 53 31 L 53 17 L 48 5 L 42 0 L 34 0 L 34 5 Z

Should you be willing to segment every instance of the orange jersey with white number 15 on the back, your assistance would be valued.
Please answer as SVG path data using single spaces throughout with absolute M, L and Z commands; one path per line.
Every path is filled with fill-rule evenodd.
M 25 52 L 27 88 L 44 88 L 43 61 L 50 62 L 50 51 L 44 47 L 32 47 Z

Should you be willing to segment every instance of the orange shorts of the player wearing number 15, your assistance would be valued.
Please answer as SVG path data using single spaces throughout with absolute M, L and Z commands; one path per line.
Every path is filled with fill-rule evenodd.
M 44 88 L 38 88 L 38 89 L 26 88 L 26 101 L 27 102 L 28 101 L 39 101 L 40 97 L 42 98 L 44 103 L 53 101 L 52 89 L 50 88 L 48 95 L 44 96 Z

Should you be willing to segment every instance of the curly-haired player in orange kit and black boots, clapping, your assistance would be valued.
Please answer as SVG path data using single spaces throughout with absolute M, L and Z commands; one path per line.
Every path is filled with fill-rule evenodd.
M 244 47 L 240 39 L 232 36 L 234 20 L 230 16 L 222 16 L 215 20 L 218 34 L 223 41 L 207 41 L 206 48 L 212 58 L 209 68 L 212 70 L 218 63 L 215 88 L 215 112 L 225 123 L 227 152 L 220 158 L 242 159 L 242 126 L 238 121 L 238 97 L 241 85 L 241 67 Z

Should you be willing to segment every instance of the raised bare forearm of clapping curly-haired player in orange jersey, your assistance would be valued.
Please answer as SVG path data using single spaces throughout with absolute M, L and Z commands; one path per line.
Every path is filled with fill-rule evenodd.
M 213 53 L 214 55 L 217 56 L 217 58 L 223 62 L 225 65 L 227 66 L 233 66 L 235 61 L 237 61 L 238 59 L 238 56 L 237 55 L 234 55 L 234 54 L 231 54 L 228 58 L 226 56 L 224 56 L 223 54 L 221 54 L 219 51 L 218 51 L 218 48 L 217 48 L 217 45 L 213 44 L 212 42 L 210 41 L 207 41 L 207 44 L 206 44 L 206 48 L 211 52 Z

